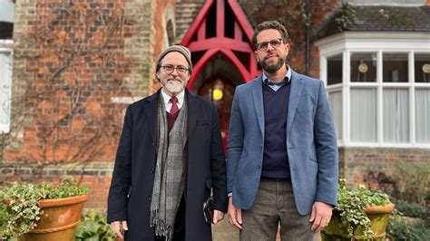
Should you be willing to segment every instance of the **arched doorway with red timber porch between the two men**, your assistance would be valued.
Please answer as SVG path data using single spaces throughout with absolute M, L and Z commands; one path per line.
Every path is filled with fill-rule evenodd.
M 224 148 L 235 86 L 260 73 L 252 32 L 238 1 L 208 0 L 181 41 L 193 63 L 188 88 L 217 106 Z

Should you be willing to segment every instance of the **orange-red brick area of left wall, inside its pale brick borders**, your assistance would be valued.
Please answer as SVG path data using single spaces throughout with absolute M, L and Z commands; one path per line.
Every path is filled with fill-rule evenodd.
M 26 119 L 14 122 L 23 131 L 22 146 L 5 149 L 5 160 L 111 159 L 124 108 L 111 100 L 131 96 L 123 85 L 132 69 L 124 42 L 133 27 L 124 3 L 37 1 L 34 11 L 26 27 L 33 55 L 16 56 L 24 58 L 29 77 L 19 80 L 26 81 L 24 95 L 13 100 L 15 113 Z

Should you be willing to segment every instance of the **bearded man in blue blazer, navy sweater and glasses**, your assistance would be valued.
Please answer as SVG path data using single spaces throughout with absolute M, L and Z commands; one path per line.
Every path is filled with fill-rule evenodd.
M 263 69 L 238 86 L 227 147 L 229 218 L 240 240 L 319 240 L 337 205 L 337 139 L 324 83 L 285 62 L 282 24 L 259 24 Z

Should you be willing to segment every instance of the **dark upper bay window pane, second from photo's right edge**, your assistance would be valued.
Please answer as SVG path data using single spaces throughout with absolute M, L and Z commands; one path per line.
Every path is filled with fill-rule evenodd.
M 407 82 L 407 53 L 384 53 L 382 60 L 384 82 Z

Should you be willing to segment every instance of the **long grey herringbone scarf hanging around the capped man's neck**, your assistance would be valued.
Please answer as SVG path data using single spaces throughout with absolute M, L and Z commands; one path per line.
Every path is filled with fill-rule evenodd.
M 187 106 L 184 102 L 168 138 L 166 108 L 161 94 L 159 102 L 159 147 L 152 188 L 150 226 L 155 226 L 156 236 L 165 236 L 170 241 L 184 186 L 182 151 L 183 136 L 186 135 L 183 130 L 186 130 Z

